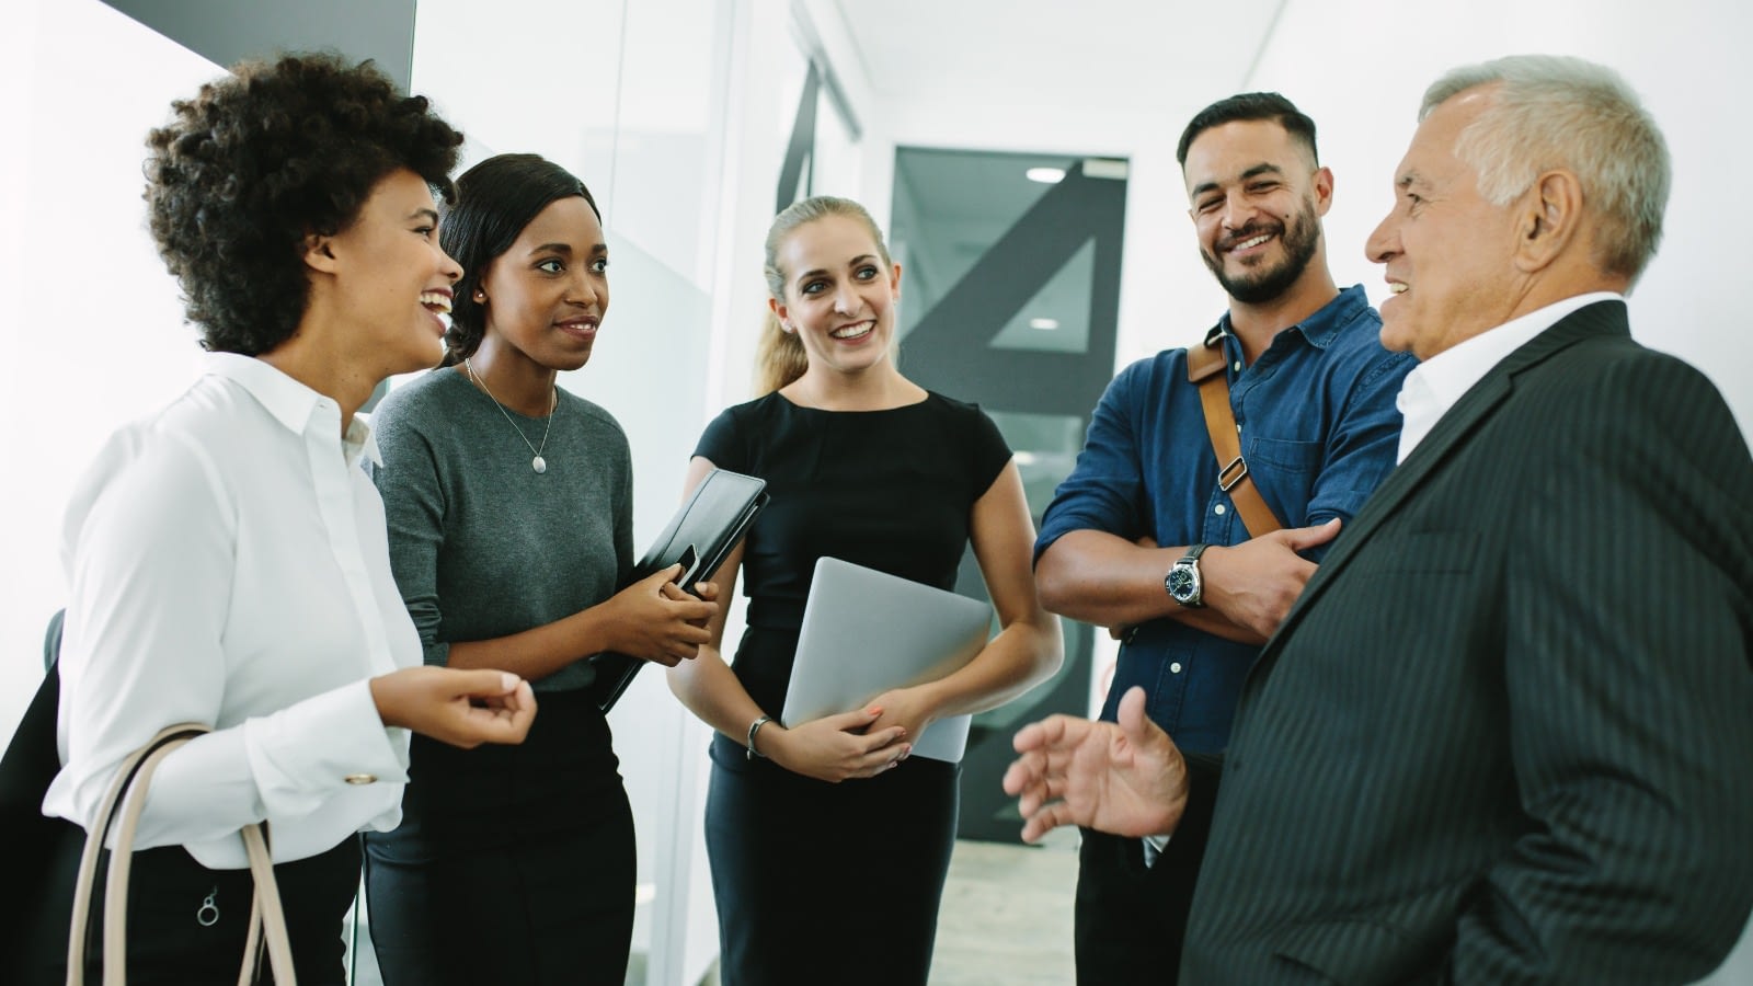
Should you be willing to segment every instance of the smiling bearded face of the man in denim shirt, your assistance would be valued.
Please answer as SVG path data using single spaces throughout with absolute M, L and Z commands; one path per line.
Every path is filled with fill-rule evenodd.
M 1271 302 L 1320 254 L 1332 172 L 1276 121 L 1206 130 L 1187 147 L 1183 177 L 1199 256 L 1231 298 Z

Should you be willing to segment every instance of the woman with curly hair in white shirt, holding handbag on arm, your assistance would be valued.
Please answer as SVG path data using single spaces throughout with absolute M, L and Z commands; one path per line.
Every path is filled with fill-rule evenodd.
M 172 753 L 138 823 L 128 982 L 235 982 L 251 914 L 237 832 L 268 823 L 298 977 L 342 982 L 359 830 L 401 818 L 408 732 L 519 742 L 529 686 L 424 667 L 389 568 L 356 418 L 440 356 L 461 268 L 438 246 L 461 135 L 380 72 L 333 56 L 252 63 L 149 137 L 153 237 L 210 351 L 179 400 L 121 428 L 65 528 L 63 897 L 39 911 L 61 982 L 72 874 L 117 763 Z

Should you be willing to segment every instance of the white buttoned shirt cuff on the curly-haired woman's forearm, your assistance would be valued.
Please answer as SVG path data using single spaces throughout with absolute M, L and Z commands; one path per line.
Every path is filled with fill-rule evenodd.
M 244 723 L 244 749 L 268 818 L 300 818 L 347 784 L 407 782 L 407 730 L 377 714 L 368 681 Z

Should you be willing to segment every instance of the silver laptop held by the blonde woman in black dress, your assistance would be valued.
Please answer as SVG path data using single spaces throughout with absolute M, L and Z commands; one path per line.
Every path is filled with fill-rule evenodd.
M 987 644 L 992 607 L 899 575 L 820 558 L 803 609 L 798 660 L 780 721 L 787 726 L 850 712 L 891 688 L 961 670 Z M 912 737 L 913 756 L 957 763 L 969 716 Z

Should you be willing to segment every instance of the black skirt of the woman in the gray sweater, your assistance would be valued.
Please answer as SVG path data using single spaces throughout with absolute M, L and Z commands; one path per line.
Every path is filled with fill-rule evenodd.
M 522 746 L 415 737 L 396 832 L 368 833 L 386 986 L 622 986 L 638 854 L 603 712 L 542 693 Z

